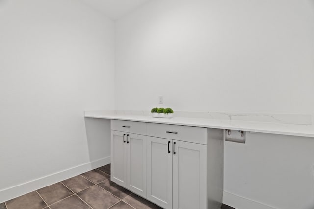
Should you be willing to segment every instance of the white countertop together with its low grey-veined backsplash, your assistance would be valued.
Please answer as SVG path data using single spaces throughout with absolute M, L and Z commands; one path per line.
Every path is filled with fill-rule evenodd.
M 85 111 L 85 117 L 131 120 L 207 128 L 314 137 L 312 116 L 305 114 L 230 114 L 179 112 L 173 118 L 154 118 L 148 111 Z M 295 122 L 293 122 L 295 121 Z

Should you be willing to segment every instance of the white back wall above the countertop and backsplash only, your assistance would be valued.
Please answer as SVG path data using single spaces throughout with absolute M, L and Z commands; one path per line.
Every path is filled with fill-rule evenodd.
M 117 109 L 314 110 L 313 0 L 153 0 L 116 37 Z

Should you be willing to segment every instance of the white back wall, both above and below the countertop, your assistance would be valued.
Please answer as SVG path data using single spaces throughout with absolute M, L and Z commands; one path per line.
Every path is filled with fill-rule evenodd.
M 314 112 L 313 0 L 153 0 L 116 21 L 116 109 Z M 225 143 L 224 203 L 313 209 L 313 139 Z

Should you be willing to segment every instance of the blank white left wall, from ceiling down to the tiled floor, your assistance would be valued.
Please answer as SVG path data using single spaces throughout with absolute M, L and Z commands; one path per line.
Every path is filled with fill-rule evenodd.
M 102 109 L 114 109 L 113 21 L 77 0 L 0 0 L 0 202 L 108 157 L 83 117 Z

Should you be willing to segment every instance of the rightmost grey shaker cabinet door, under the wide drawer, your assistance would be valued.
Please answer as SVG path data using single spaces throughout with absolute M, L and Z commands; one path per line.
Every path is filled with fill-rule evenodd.
M 206 145 L 173 143 L 173 209 L 206 209 Z

